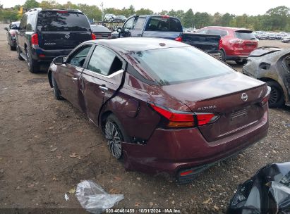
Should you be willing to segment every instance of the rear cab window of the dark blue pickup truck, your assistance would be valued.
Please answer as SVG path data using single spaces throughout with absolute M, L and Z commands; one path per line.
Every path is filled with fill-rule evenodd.
M 178 18 L 152 17 L 147 23 L 147 31 L 182 32 Z

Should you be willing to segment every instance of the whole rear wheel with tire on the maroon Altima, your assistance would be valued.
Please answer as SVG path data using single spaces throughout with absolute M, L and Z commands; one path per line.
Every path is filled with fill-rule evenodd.
M 110 114 L 104 123 L 103 130 L 111 155 L 116 159 L 121 159 L 123 157 L 121 142 L 128 141 L 121 122 L 114 114 Z

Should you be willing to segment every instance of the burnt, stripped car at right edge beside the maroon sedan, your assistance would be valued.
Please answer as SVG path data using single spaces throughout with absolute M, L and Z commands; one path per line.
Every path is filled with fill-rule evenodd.
M 290 49 L 261 47 L 248 57 L 243 74 L 267 82 L 270 107 L 290 106 Z

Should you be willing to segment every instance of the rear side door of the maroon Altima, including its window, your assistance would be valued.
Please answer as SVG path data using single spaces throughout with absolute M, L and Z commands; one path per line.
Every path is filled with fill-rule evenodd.
M 121 86 L 125 65 L 116 53 L 97 45 L 83 70 L 81 79 L 87 117 L 96 125 L 103 104 Z

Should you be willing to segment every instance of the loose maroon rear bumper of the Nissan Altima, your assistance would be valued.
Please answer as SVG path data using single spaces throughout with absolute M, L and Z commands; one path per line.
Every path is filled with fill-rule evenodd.
M 207 142 L 198 128 L 157 129 L 145 145 L 123 142 L 125 168 L 176 177 L 177 180 L 181 180 L 181 171 L 192 169 L 193 177 L 212 163 L 228 158 L 265 137 L 269 127 L 268 107 L 263 108 L 263 117 L 254 125 L 213 142 Z

